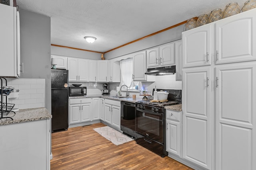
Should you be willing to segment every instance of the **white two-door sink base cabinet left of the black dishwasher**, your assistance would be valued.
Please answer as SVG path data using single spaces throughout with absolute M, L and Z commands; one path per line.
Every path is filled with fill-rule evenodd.
M 112 125 L 114 129 L 120 130 L 121 102 L 105 99 L 104 118 L 106 123 Z

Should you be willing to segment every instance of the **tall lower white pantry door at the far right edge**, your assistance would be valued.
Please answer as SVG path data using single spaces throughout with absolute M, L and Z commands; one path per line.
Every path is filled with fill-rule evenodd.
M 216 66 L 216 170 L 256 169 L 256 62 Z

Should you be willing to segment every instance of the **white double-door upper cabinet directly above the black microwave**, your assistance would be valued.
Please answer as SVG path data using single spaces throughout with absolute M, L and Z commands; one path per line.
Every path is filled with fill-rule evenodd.
M 68 57 L 68 80 L 86 82 L 88 81 L 88 60 Z

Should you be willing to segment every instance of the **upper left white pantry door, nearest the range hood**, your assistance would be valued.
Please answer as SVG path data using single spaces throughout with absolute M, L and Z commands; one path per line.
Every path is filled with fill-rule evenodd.
M 182 32 L 183 67 L 211 64 L 212 23 Z

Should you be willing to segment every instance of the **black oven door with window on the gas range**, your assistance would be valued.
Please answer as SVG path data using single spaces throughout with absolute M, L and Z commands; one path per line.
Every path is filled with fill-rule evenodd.
M 164 113 L 136 108 L 135 120 L 137 133 L 164 143 Z

